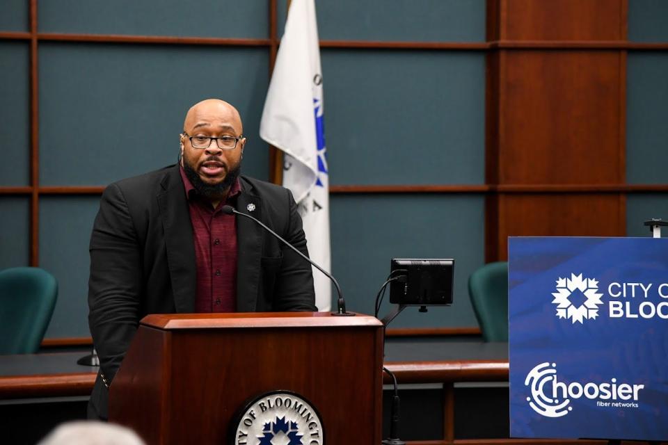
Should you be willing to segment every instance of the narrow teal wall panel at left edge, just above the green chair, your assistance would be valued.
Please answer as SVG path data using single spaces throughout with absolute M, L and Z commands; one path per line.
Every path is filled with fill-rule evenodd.
M 0 270 L 30 266 L 30 199 L 0 196 Z

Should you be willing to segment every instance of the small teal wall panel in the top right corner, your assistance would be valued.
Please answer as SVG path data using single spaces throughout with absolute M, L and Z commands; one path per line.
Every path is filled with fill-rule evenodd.
M 668 1 L 629 0 L 628 40 L 668 42 Z

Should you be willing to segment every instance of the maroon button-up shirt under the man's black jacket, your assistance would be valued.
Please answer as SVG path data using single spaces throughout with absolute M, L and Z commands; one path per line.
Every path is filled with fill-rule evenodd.
M 234 215 L 225 215 L 221 209 L 226 204 L 234 206 L 241 193 L 239 179 L 214 209 L 211 202 L 195 190 L 183 168 L 180 171 L 193 225 L 197 264 L 195 312 L 234 312 L 237 309 L 237 224 Z

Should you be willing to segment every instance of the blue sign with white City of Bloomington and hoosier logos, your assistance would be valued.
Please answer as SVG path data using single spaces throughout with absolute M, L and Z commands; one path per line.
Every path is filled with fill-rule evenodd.
M 509 238 L 511 437 L 668 439 L 668 239 Z

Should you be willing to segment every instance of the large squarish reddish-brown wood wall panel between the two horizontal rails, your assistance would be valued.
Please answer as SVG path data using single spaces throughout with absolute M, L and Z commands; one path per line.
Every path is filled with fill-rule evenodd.
M 620 184 L 623 55 L 504 51 L 500 184 Z

